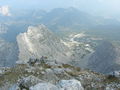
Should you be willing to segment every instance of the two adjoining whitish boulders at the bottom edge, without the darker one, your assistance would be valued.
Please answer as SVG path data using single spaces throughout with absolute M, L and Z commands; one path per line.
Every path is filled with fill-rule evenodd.
M 39 83 L 30 88 L 30 90 L 84 90 L 80 81 L 61 80 L 57 85 L 49 83 Z

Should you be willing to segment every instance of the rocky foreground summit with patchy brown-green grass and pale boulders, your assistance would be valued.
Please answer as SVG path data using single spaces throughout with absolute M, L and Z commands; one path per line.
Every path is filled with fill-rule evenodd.
M 19 64 L 0 76 L 0 90 L 113 90 L 120 89 L 120 78 L 81 70 L 69 64 L 37 62 Z

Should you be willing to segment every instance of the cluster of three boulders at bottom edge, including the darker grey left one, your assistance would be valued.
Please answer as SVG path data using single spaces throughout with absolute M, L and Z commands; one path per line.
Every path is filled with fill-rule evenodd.
M 43 82 L 42 80 L 29 76 L 21 79 L 18 85 L 13 85 L 10 90 L 25 89 L 25 90 L 84 90 L 80 81 L 61 80 L 57 84 Z

